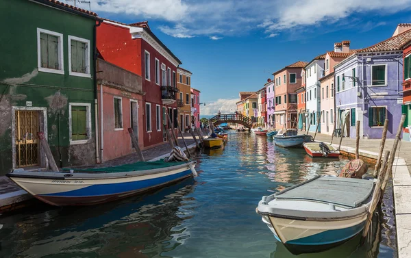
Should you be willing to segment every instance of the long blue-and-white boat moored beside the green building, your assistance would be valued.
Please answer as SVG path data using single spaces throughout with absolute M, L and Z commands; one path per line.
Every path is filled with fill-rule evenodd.
M 7 176 L 18 186 L 55 206 L 95 205 L 147 192 L 197 175 L 194 162 L 136 162 L 73 172 L 33 172 L 21 168 Z

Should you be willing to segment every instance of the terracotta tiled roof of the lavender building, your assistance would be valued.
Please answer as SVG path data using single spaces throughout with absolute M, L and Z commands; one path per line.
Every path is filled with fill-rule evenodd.
M 382 42 L 374 44 L 371 47 L 361 49 L 358 53 L 366 52 L 384 52 L 384 51 L 398 51 L 402 50 L 403 46 L 411 40 L 411 29 L 404 31 L 397 36 L 388 38 Z

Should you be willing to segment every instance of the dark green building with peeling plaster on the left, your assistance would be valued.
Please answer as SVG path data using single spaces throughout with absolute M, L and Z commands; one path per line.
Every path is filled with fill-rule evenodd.
M 97 14 L 54 0 L 0 1 L 0 175 L 95 164 Z

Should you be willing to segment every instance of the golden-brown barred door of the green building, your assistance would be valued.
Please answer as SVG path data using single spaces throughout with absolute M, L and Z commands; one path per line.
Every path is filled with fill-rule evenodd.
M 16 167 L 38 166 L 40 148 L 37 133 L 40 120 L 37 111 L 16 110 L 15 113 Z

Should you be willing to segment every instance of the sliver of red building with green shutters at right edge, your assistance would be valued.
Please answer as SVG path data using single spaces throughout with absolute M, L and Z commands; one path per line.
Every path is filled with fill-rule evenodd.
M 411 42 L 408 42 L 403 49 L 403 106 L 402 113 L 407 114 L 406 122 L 403 125 L 403 140 L 411 142 Z

